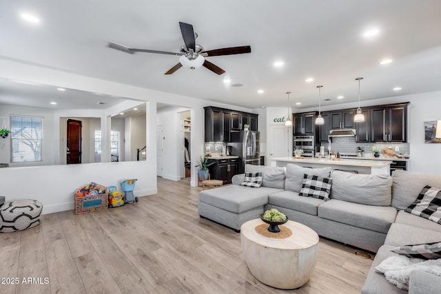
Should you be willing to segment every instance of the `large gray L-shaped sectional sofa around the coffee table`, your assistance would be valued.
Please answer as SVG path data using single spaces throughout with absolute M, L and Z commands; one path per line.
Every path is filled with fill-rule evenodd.
M 374 267 L 395 255 L 390 250 L 396 246 L 441 241 L 440 224 L 404 211 L 425 185 L 441 188 L 441 176 L 407 171 L 361 175 L 294 164 L 286 168 L 247 165 L 245 171 L 262 172 L 262 187 L 240 186 L 245 179 L 241 174 L 234 176 L 233 185 L 201 191 L 200 216 L 239 231 L 247 220 L 276 208 L 323 237 L 377 253 L 362 293 L 405 293 Z M 330 199 L 299 196 L 304 174 L 331 177 Z M 441 277 L 412 272 L 409 293 L 438 293 L 440 288 Z

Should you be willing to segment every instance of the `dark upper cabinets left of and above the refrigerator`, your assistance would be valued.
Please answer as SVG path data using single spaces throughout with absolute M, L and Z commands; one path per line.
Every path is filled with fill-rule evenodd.
M 244 125 L 257 131 L 258 114 L 236 112 L 231 109 L 204 107 L 205 109 L 205 142 L 230 142 L 232 133 L 239 132 Z

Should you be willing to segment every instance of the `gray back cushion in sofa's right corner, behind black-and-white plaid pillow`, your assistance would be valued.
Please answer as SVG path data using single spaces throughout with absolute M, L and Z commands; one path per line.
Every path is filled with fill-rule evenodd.
M 392 206 L 400 210 L 407 209 L 426 185 L 441 188 L 441 175 L 396 170 L 392 173 L 392 181 Z

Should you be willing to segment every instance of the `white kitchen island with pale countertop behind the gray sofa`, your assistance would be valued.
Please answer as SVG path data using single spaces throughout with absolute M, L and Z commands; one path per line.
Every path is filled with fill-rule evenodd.
M 294 163 L 300 167 L 331 167 L 341 171 L 357 171 L 358 174 L 390 174 L 389 160 L 360 160 L 360 159 L 341 159 L 330 160 L 327 158 L 294 158 L 292 156 L 271 157 L 271 167 L 286 167 L 288 163 Z

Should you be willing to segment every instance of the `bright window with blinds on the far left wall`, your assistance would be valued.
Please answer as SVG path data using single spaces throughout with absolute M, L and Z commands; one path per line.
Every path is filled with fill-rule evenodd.
M 11 162 L 41 161 L 43 118 L 11 116 Z

